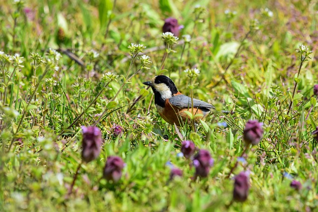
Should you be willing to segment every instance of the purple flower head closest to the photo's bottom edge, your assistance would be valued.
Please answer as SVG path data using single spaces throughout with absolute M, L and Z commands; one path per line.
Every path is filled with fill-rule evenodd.
M 248 172 L 240 172 L 234 177 L 233 200 L 244 202 L 247 199 L 249 190 L 249 176 Z

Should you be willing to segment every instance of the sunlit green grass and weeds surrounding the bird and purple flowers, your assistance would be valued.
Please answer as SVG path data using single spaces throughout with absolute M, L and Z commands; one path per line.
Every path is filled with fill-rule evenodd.
M 0 56 L 1 211 L 317 211 L 317 3 L 114 2 L 1 3 L 0 51 L 23 57 L 20 63 Z M 169 16 L 191 42 L 180 36 L 162 62 Z M 141 53 L 131 58 L 131 43 L 147 47 L 150 69 L 141 69 Z M 314 52 L 295 77 L 299 45 Z M 193 67 L 200 73 L 189 78 L 184 70 Z M 103 75 L 109 71 L 118 77 Z M 142 84 L 158 74 L 186 95 L 235 112 L 211 115 L 196 130 L 178 129 L 210 151 L 215 163 L 207 178 L 192 180 L 191 161 L 178 156 L 180 134 L 159 117 Z M 231 203 L 234 180 L 227 176 L 251 119 L 263 123 L 264 136 L 234 170 L 250 171 L 248 199 Z M 81 164 L 68 195 L 81 163 L 80 126 L 91 125 L 102 131 L 102 150 Z M 116 125 L 124 129 L 118 137 Z M 126 163 L 117 183 L 102 179 L 109 155 Z M 168 181 L 168 161 L 183 177 Z M 290 187 L 292 179 L 302 183 L 300 191 Z

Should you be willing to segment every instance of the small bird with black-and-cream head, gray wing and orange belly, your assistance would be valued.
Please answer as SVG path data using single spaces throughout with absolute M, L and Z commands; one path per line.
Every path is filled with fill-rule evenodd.
M 189 111 L 193 115 L 201 114 L 201 116 L 196 116 L 194 120 L 199 122 L 211 110 L 215 109 L 212 104 L 194 98 L 192 100 L 191 97 L 180 93 L 168 76 L 158 75 L 152 78 L 151 81 L 143 82 L 143 84 L 151 86 L 155 94 L 155 105 L 159 115 L 171 125 L 183 126 L 189 120 L 189 116 L 185 111 Z M 222 112 L 226 113 L 227 111 Z

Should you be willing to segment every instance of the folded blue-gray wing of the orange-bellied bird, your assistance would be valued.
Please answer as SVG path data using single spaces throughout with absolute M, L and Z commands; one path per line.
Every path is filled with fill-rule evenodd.
M 179 107 L 179 108 L 191 108 L 191 98 L 180 94 L 176 96 L 172 96 L 169 99 L 170 104 Z M 215 109 L 215 107 L 209 103 L 206 103 L 204 101 L 198 100 L 198 99 L 193 99 L 193 107 L 198 107 L 202 110 L 209 111 L 210 109 Z

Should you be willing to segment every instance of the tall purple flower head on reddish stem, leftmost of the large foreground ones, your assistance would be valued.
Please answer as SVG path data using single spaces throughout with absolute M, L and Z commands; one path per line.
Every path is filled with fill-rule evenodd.
M 98 157 L 100 153 L 102 138 L 99 128 L 81 127 L 83 133 L 81 158 L 86 163 Z

